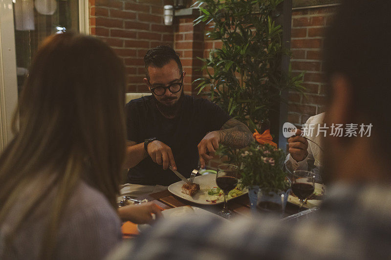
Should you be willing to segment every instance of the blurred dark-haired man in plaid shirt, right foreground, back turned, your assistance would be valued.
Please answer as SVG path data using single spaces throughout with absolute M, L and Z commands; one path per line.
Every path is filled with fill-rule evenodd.
M 326 200 L 296 223 L 255 217 L 164 220 L 114 259 L 390 259 L 391 1 L 346 0 L 329 27 L 325 122 L 372 124 L 368 137 L 327 136 Z

